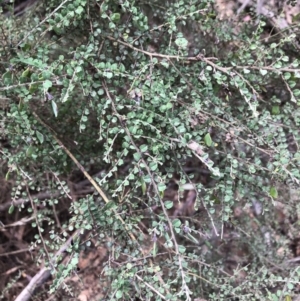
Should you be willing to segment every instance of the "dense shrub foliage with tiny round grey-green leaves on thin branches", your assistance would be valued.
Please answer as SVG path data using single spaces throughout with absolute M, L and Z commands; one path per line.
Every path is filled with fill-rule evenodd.
M 298 189 L 300 181 L 296 35 L 268 40 L 265 21 L 220 21 L 209 0 L 51 0 L 31 14 L 22 21 L 1 17 L 1 128 L 11 145 L 1 156 L 15 178 L 13 200 L 28 197 L 26 187 L 60 191 L 32 202 L 39 259 L 51 258 L 61 236 L 93 229 L 123 262 L 104 266 L 110 300 L 293 295 L 298 269 L 271 268 L 270 261 L 287 260 L 289 251 L 284 239 L 275 240 L 279 230 L 270 221 L 283 186 Z M 71 197 L 61 178 L 77 169 L 65 149 L 85 170 L 102 171 L 95 180 L 110 201 L 97 192 L 73 200 L 60 234 L 53 206 Z M 168 214 L 177 208 L 166 196 L 173 178 L 178 195 L 184 187 L 196 191 L 195 216 Z M 253 200 L 264 206 L 266 215 L 255 219 L 265 232 L 249 228 L 250 217 L 234 222 L 234 208 Z M 236 241 L 223 237 L 230 223 Z M 265 234 L 272 231 L 270 248 Z M 223 243 L 246 248 L 251 265 L 242 260 L 225 271 L 230 260 L 220 257 Z M 52 292 L 76 268 L 79 252 L 74 247 L 67 267 L 52 268 Z

